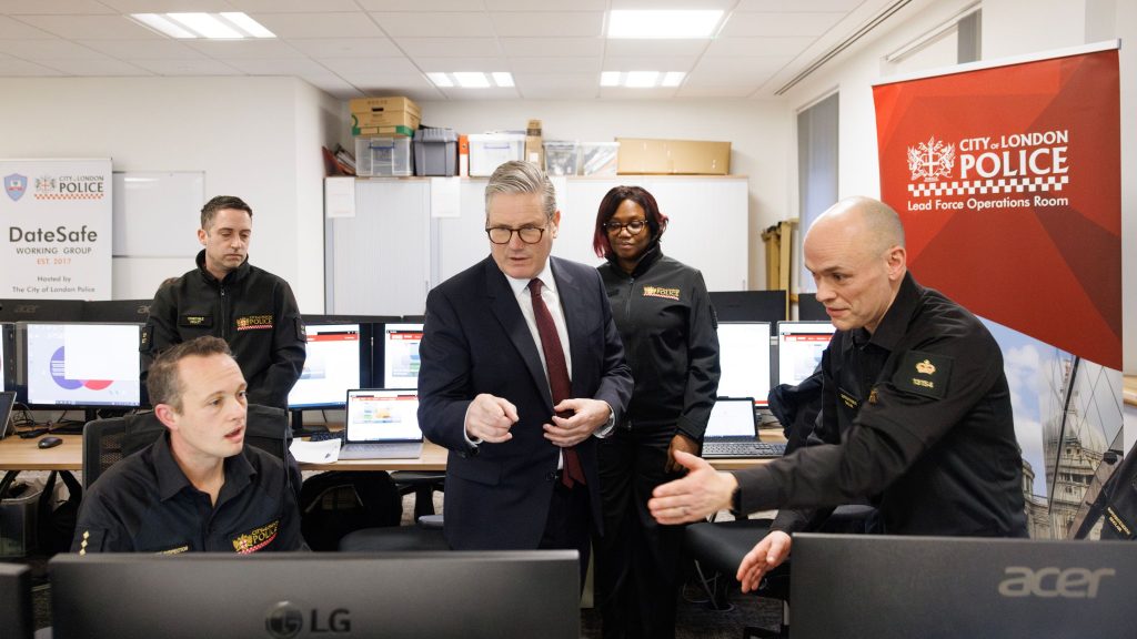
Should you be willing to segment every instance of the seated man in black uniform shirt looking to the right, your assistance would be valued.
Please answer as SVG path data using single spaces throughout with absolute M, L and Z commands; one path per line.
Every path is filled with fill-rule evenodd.
M 219 338 L 171 348 L 147 381 L 167 432 L 88 491 L 72 550 L 256 553 L 304 548 L 283 462 L 244 446 L 246 384 Z

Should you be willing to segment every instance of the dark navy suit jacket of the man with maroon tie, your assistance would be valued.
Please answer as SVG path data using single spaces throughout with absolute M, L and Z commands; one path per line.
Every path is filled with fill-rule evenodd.
M 603 399 L 616 422 L 632 377 L 608 296 L 595 268 L 550 257 L 568 330 L 572 397 Z M 553 416 L 549 383 L 517 298 L 492 257 L 434 288 L 418 346 L 418 424 L 450 450 L 445 531 L 455 549 L 532 549 L 545 530 L 559 448 L 543 437 Z M 466 407 L 479 393 L 517 407 L 513 439 L 471 447 Z M 576 446 L 599 525 L 596 438 Z

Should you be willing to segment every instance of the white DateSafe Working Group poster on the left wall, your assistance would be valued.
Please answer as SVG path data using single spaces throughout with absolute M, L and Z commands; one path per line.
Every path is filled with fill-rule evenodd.
M 110 299 L 110 159 L 0 159 L 0 297 Z

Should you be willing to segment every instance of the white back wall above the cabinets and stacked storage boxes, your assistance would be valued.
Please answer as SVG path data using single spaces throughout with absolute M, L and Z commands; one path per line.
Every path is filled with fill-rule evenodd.
M 730 141 L 731 174 L 749 177 L 747 279 L 752 289 L 764 288 L 762 230 L 790 216 L 788 167 L 795 161 L 791 150 L 796 142 L 792 115 L 782 100 L 518 100 L 420 106 L 424 125 L 449 126 L 463 133 L 524 130 L 531 118 L 537 118 L 546 140 L 603 142 L 619 136 Z

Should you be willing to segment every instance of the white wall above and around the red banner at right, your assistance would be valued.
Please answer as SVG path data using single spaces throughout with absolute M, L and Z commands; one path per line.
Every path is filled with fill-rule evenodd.
M 944 23 L 970 0 L 913 2 L 894 16 L 894 26 L 852 47 L 789 91 L 788 108 L 799 110 L 835 88 L 840 90 L 840 197 L 879 197 L 877 128 L 872 83 L 889 72 L 883 57 Z M 982 59 L 1024 56 L 1120 38 L 1137 42 L 1132 0 L 985 0 Z M 1137 49 L 1121 49 L 1122 326 L 1137 317 Z M 906 69 L 911 70 L 911 69 Z M 795 176 L 796 180 L 796 169 Z M 796 197 L 791 200 L 796 202 Z M 1122 337 L 1123 367 L 1137 373 L 1137 331 Z

